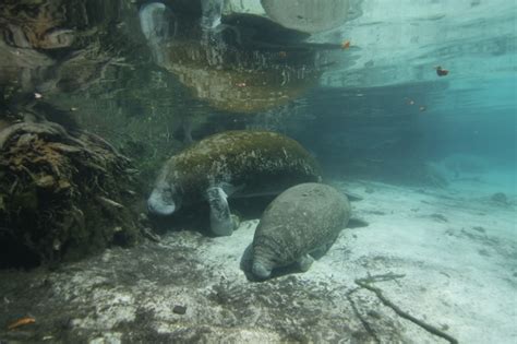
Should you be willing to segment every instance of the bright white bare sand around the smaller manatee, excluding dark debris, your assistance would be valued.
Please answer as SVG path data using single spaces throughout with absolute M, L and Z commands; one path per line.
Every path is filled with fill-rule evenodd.
M 327 254 L 297 277 L 352 288 L 366 274 L 404 274 L 375 284 L 402 310 L 460 343 L 517 342 L 515 195 L 509 194 L 512 204 L 497 204 L 490 199 L 493 190 L 476 181 L 446 189 L 330 183 L 364 195 L 353 211 L 370 225 L 341 232 Z M 245 283 L 236 262 L 256 224 L 244 222 L 231 237 L 215 238 L 203 260 L 225 278 Z M 405 332 L 414 343 L 442 341 L 412 324 Z

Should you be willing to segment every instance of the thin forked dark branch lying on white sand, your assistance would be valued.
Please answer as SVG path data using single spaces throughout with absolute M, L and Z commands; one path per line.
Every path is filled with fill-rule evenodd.
M 394 274 L 394 273 L 387 273 L 387 274 L 383 274 L 383 275 L 374 275 L 374 276 L 368 276 L 365 278 L 358 278 L 356 280 L 356 284 L 359 285 L 359 288 L 356 288 L 356 289 L 352 289 L 351 292 L 348 293 L 347 297 L 349 298 L 350 300 L 350 295 L 361 288 L 364 288 L 364 289 L 368 289 L 370 292 L 373 292 L 376 297 L 383 303 L 384 306 L 387 306 L 389 308 L 393 309 L 393 311 L 395 311 L 397 313 L 397 316 L 404 318 L 404 319 L 407 319 L 409 321 L 411 321 L 412 323 L 421 327 L 422 329 L 424 329 L 425 331 L 428 331 L 429 333 L 433 334 L 433 335 L 436 335 L 436 336 L 440 336 L 444 340 L 446 340 L 447 342 L 452 343 L 452 344 L 457 344 L 458 341 L 448 335 L 447 333 L 438 330 L 437 328 L 424 322 L 423 320 L 420 320 L 420 319 L 417 319 L 414 318 L 413 316 L 409 315 L 408 312 L 401 310 L 397 305 L 395 305 L 394 303 L 392 303 L 389 299 L 387 299 L 382 290 L 375 286 L 372 286 L 371 284 L 372 283 L 375 283 L 375 282 L 384 282 L 384 281 L 397 281 L 398 278 L 401 278 L 404 277 L 405 275 L 397 275 L 397 274 Z M 352 303 L 352 307 L 354 307 L 354 304 Z M 357 312 L 358 313 L 358 312 Z M 360 317 L 361 319 L 361 317 Z M 365 320 L 364 319 L 361 319 L 363 325 L 365 323 Z M 373 332 L 373 330 L 371 329 L 371 327 L 366 322 L 366 325 L 365 325 L 365 329 L 366 331 L 378 342 L 378 339 L 375 336 L 375 333 Z

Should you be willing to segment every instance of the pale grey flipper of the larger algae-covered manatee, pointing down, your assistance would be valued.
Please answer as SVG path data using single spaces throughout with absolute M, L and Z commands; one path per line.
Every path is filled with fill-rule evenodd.
M 231 235 L 235 221 L 230 214 L 227 194 L 220 187 L 211 187 L 206 190 L 206 199 L 211 205 L 211 230 L 217 236 Z

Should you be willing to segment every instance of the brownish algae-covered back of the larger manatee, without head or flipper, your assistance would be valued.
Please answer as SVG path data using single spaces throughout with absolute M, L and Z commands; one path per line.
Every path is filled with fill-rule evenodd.
M 237 197 L 279 193 L 300 182 L 318 181 L 321 168 L 297 141 L 267 131 L 227 131 L 173 156 L 169 178 L 194 200 L 214 183 L 239 188 Z M 185 200 L 188 201 L 188 200 Z

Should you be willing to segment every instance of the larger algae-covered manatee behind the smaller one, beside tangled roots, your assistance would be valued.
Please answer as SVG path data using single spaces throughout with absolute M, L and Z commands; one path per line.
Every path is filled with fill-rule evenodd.
M 208 201 L 211 230 L 231 235 L 228 197 L 278 194 L 301 182 L 321 181 L 314 157 L 297 141 L 268 131 L 226 131 L 172 156 L 147 200 L 151 213 Z

